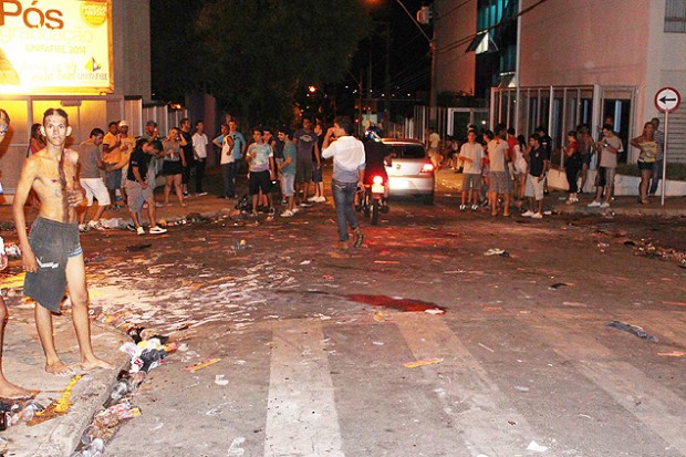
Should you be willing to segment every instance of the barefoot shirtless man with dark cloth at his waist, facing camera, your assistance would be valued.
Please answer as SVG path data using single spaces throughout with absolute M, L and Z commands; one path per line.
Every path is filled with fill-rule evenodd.
M 24 162 L 12 207 L 27 271 L 24 294 L 38 302 L 35 328 L 45 353 L 45 371 L 52 374 L 73 371 L 58 356 L 52 333 L 52 313 L 60 312 L 67 287 L 81 367 L 112 368 L 95 356 L 91 345 L 89 290 L 76 215 L 84 190 L 79 183 L 79 154 L 64 148 L 71 132 L 63 110 L 50 108 L 43 114 L 41 134 L 48 145 Z M 31 189 L 38 195 L 41 207 L 28 236 L 23 207 Z

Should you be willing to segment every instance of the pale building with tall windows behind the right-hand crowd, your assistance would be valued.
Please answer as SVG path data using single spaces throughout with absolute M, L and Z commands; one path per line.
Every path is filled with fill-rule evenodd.
M 486 11 L 500 18 L 485 33 Z M 491 124 L 523 134 L 544 125 L 557 147 L 578 124 L 597 134 L 609 121 L 633 163 L 627 141 L 652 117 L 664 125 L 658 90 L 686 94 L 685 0 L 438 0 L 436 14 L 438 91 L 474 93 L 490 77 Z M 512 37 L 513 56 L 502 45 Z M 478 62 L 488 53 L 500 64 L 485 74 Z M 686 162 L 684 138 L 686 107 L 669 115 L 668 162 Z

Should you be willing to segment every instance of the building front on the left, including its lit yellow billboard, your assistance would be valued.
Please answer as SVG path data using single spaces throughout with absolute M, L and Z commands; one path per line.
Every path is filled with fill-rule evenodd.
M 0 179 L 12 193 L 31 125 L 49 107 L 70 116 L 71 144 L 126 120 L 143 129 L 150 102 L 150 17 L 144 0 L 4 2 L 0 17 L 0 107 L 11 126 L 0 144 Z M 164 110 L 166 112 L 166 107 Z

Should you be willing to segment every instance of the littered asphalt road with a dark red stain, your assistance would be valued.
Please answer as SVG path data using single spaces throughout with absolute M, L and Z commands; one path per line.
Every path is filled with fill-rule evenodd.
M 107 456 L 686 455 L 678 220 L 491 218 L 443 193 L 340 252 L 333 218 L 82 238 L 95 312 L 187 329 Z

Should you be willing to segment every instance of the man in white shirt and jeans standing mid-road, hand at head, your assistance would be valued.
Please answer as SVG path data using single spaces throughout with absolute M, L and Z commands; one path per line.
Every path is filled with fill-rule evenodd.
M 357 188 L 364 188 L 365 155 L 364 145 L 354 136 L 353 124 L 347 117 L 336 117 L 333 127 L 326 131 L 322 157 L 333 157 L 333 176 L 331 190 L 336 207 L 336 222 L 339 226 L 339 242 L 336 248 L 347 249 L 350 235 L 347 226 L 353 231 L 353 246 L 358 248 L 364 241 L 364 233 L 357 224 L 353 201 Z M 332 141 L 336 138 L 335 142 Z

